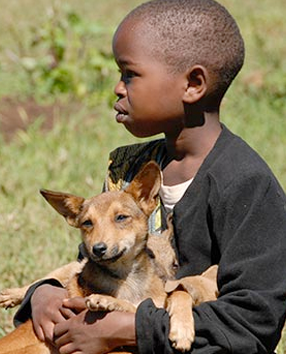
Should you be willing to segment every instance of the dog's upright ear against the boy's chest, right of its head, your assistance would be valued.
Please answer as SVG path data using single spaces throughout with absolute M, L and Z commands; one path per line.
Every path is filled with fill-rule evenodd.
M 130 193 L 149 216 L 156 208 L 160 187 L 160 168 L 156 162 L 150 161 L 142 167 L 125 192 Z

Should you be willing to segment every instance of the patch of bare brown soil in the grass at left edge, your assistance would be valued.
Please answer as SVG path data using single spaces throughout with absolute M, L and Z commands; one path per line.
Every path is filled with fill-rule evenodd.
M 66 111 L 67 107 L 60 104 L 39 104 L 30 98 L 18 101 L 9 97 L 0 100 L 0 133 L 4 141 L 10 142 L 18 130 L 26 130 L 37 118 L 43 119 L 42 128 L 51 129 L 55 118 Z

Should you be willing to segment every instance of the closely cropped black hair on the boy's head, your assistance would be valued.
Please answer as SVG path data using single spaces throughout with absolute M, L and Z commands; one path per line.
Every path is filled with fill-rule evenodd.
M 214 0 L 152 0 L 126 19 L 139 20 L 152 33 L 156 57 L 172 71 L 198 64 L 216 77 L 221 99 L 244 62 L 244 41 L 234 18 Z

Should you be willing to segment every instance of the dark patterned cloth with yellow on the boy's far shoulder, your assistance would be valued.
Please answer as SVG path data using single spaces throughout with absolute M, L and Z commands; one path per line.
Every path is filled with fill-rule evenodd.
M 157 139 L 116 148 L 109 155 L 105 190 L 120 190 L 130 183 L 148 161 L 160 164 L 165 154 L 165 140 Z

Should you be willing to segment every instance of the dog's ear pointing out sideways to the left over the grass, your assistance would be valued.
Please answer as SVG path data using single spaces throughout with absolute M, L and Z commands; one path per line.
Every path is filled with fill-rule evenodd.
M 46 189 L 41 189 L 40 193 L 71 226 L 78 227 L 77 216 L 82 209 L 84 198 Z

